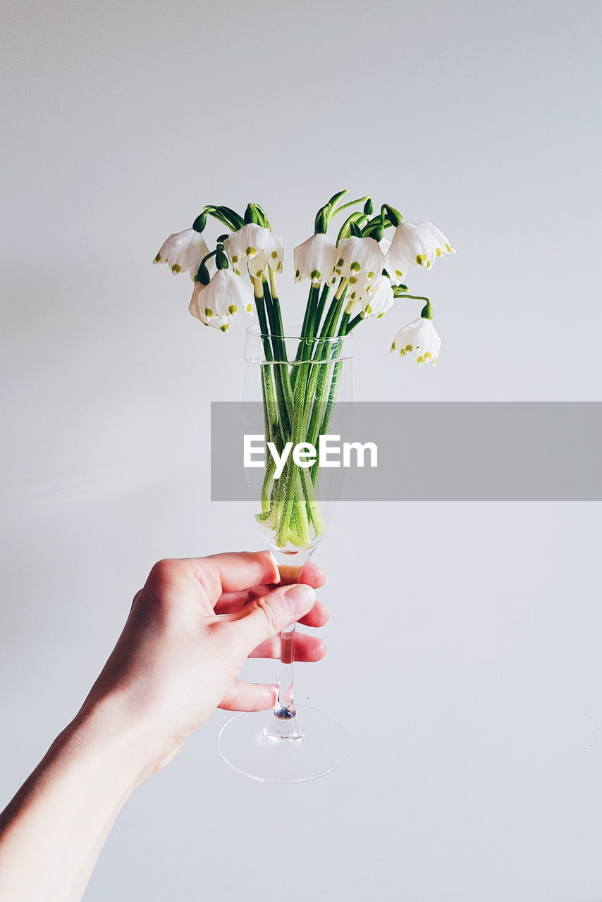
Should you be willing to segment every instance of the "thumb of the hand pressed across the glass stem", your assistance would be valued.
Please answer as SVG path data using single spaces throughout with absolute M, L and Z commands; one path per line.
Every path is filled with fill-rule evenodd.
M 300 620 L 311 610 L 315 601 L 316 593 L 310 585 L 280 585 L 272 592 L 255 598 L 233 620 L 250 653 L 260 642 L 272 639 Z

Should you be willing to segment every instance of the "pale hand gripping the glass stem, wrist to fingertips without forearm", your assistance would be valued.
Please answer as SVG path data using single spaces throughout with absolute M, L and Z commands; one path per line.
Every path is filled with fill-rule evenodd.
M 294 621 L 310 627 L 328 621 L 314 592 L 324 580 L 310 563 L 301 584 L 277 586 L 267 551 L 160 561 L 135 595 L 82 713 L 118 699 L 127 721 L 145 725 L 144 778 L 168 763 L 216 707 L 258 711 L 274 704 L 276 686 L 237 676 L 247 657 L 279 658 L 278 634 Z M 322 640 L 305 634 L 294 648 L 303 661 L 326 651 Z

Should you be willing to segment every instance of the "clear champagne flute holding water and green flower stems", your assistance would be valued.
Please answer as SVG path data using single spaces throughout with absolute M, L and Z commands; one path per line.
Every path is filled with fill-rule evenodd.
M 282 456 L 287 442 L 319 451 L 320 435 L 345 431 L 352 392 L 352 336 L 300 337 L 247 329 L 243 373 L 245 426 L 257 434 L 261 411 L 266 446 Z M 281 583 L 298 583 L 326 531 L 344 470 L 320 467 L 305 447 L 297 465 L 292 453 L 276 477 L 273 456 L 265 469 L 247 469 L 261 505 L 255 519 L 278 565 Z M 299 783 L 328 774 L 347 755 L 347 732 L 338 720 L 296 704 L 293 690 L 295 624 L 283 630 L 279 689 L 272 712 L 240 713 L 222 727 L 218 749 L 240 773 L 273 783 Z

